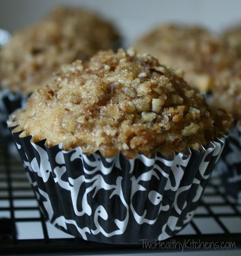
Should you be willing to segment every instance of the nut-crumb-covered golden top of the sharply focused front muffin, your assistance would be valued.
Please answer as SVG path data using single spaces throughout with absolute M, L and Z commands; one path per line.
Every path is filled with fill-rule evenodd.
M 213 115 L 202 93 L 191 88 L 180 70 L 172 71 L 146 54 L 119 49 L 101 51 L 88 62 L 65 65 L 54 81 L 38 89 L 18 110 L 18 129 L 47 146 L 81 146 L 104 157 L 138 152 L 202 150 L 231 125 L 223 111 Z

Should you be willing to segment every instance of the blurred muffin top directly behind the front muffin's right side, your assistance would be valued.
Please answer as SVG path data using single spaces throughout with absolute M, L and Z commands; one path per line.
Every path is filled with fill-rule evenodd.
M 160 25 L 140 38 L 136 49 L 167 66 L 183 68 L 187 82 L 202 91 L 210 88 L 216 72 L 229 66 L 234 55 L 225 41 L 208 30 L 177 24 Z

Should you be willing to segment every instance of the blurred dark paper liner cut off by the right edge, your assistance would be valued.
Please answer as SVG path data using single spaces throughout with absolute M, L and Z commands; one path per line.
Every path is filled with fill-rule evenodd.
M 227 193 L 241 204 L 241 122 L 231 131 L 215 171 L 222 178 Z

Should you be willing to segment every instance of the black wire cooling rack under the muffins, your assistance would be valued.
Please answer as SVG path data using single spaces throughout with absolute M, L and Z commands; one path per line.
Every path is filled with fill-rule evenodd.
M 9 156 L 6 145 L 0 138 L 0 254 L 241 248 L 241 206 L 214 178 L 191 223 L 162 243 L 109 245 L 74 238 L 44 219 L 21 162 Z

